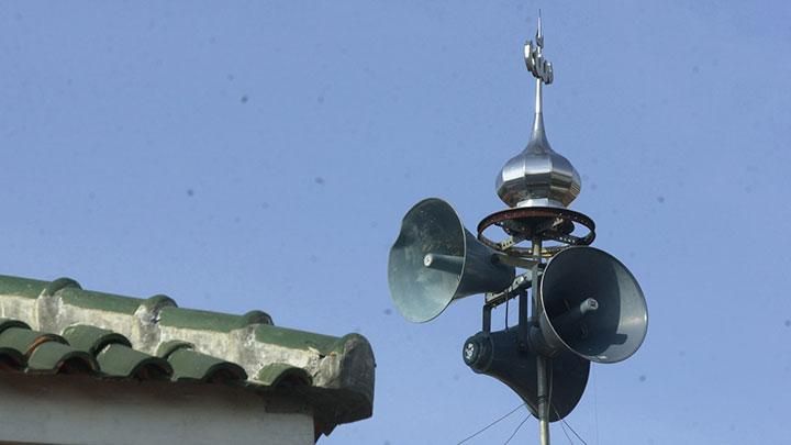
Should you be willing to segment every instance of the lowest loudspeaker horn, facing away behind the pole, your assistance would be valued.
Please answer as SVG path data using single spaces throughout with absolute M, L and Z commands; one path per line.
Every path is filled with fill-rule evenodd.
M 522 400 L 531 413 L 538 416 L 538 379 L 535 352 L 520 348 L 519 330 L 492 333 L 479 332 L 465 342 L 463 357 L 478 374 L 494 377 L 505 383 Z M 567 416 L 582 398 L 588 385 L 590 361 L 569 351 L 560 351 L 548 360 L 549 422 Z

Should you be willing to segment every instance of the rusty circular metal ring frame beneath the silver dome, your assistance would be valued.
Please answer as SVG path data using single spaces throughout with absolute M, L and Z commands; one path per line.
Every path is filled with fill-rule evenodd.
M 571 235 L 575 223 L 588 229 L 584 236 Z M 550 257 L 568 246 L 587 246 L 595 238 L 595 223 L 588 215 L 568 209 L 552 207 L 531 207 L 506 209 L 494 212 L 478 223 L 478 240 L 487 246 L 508 255 L 532 256 L 533 252 L 526 247 L 514 245 L 503 247 L 483 235 L 483 231 L 492 225 L 500 226 L 508 235 L 519 240 L 552 240 L 565 245 L 542 248 L 543 257 Z

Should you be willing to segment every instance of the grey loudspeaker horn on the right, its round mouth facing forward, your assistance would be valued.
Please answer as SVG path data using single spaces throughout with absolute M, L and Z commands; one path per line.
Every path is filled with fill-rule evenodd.
M 632 356 L 646 336 L 648 310 L 635 277 L 612 255 L 569 247 L 546 266 L 539 325 L 550 348 L 597 363 Z

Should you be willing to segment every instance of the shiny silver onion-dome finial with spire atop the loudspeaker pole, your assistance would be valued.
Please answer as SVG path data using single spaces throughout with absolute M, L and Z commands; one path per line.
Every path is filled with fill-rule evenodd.
M 527 70 L 536 78 L 535 116 L 527 147 L 511 158 L 497 178 L 497 192 L 509 207 L 564 208 L 580 192 L 579 174 L 571 163 L 555 153 L 544 129 L 543 86 L 555 80 L 553 65 L 543 55 L 544 30 L 541 11 L 535 44 L 525 43 Z

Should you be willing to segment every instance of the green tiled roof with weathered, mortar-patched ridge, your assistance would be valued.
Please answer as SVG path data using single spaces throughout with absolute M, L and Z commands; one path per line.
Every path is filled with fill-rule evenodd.
M 343 337 L 275 326 L 243 315 L 178 308 L 83 290 L 69 278 L 0 275 L 1 372 L 87 374 L 287 392 L 313 407 L 316 437 L 371 415 L 374 353 Z

